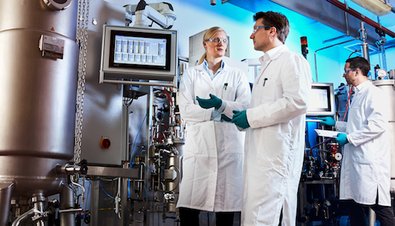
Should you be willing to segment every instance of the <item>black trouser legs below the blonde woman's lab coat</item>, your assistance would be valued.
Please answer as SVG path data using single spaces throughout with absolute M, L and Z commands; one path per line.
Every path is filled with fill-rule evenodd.
M 180 207 L 180 226 L 199 226 L 200 210 Z M 215 225 L 233 226 L 235 212 L 215 212 Z

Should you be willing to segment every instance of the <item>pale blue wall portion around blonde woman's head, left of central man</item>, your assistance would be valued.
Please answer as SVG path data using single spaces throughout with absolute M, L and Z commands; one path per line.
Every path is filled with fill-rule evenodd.
M 107 0 L 123 6 L 125 4 L 138 4 L 138 1 Z M 147 4 L 160 1 L 146 0 Z M 178 54 L 189 56 L 189 37 L 212 26 L 220 26 L 230 36 L 230 57 L 237 60 L 244 58 L 257 58 L 262 55 L 254 50 L 250 35 L 254 21 L 252 12 L 240 9 L 232 4 L 210 5 L 207 0 L 170 0 L 177 20 L 172 30 L 178 31 Z M 219 1 L 220 2 L 220 1 Z M 134 16 L 133 16 L 134 19 Z M 154 24 L 155 28 L 159 28 Z

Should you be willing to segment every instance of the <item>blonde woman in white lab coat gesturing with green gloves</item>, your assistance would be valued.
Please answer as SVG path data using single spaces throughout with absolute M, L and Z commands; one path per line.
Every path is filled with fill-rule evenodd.
M 242 207 L 244 135 L 230 123 L 233 110 L 247 109 L 247 76 L 222 61 L 227 36 L 220 27 L 205 32 L 205 54 L 180 81 L 178 106 L 187 123 L 177 207 L 181 226 L 199 225 L 199 212 L 215 212 L 216 225 L 233 225 Z

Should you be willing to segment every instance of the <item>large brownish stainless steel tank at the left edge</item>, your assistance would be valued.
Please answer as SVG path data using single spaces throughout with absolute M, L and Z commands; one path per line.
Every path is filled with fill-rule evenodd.
M 77 0 L 0 0 L 0 226 L 11 197 L 67 185 L 53 169 L 73 158 L 77 11 Z M 41 36 L 62 40 L 63 58 L 42 56 Z

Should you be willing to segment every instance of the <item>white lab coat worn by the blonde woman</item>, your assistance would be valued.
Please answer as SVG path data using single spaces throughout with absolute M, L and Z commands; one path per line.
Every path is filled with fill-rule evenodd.
M 214 108 L 201 108 L 196 101 L 196 96 L 210 98 L 210 93 L 226 102 L 223 114 L 228 118 L 232 118 L 233 110 L 245 110 L 250 103 L 250 83 L 238 68 L 225 63 L 213 80 L 203 64 L 185 71 L 178 105 L 187 123 L 187 135 L 177 207 L 241 211 L 245 136 L 233 123 L 210 120 Z

